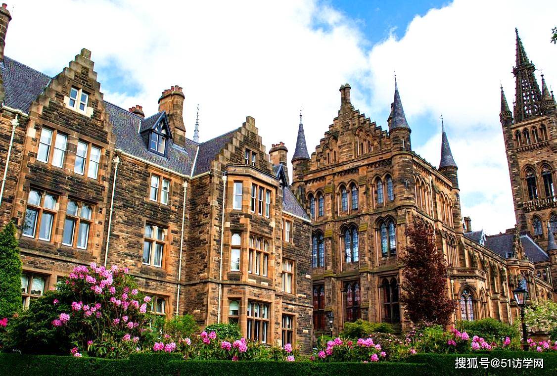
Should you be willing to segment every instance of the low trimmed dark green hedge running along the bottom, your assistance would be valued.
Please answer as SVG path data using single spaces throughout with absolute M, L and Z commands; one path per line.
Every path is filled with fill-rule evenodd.
M 477 369 L 455 369 L 456 358 L 478 358 Z M 544 368 L 484 369 L 480 358 L 541 358 Z M 477 354 L 417 354 L 407 363 L 317 363 L 317 362 L 230 362 L 219 360 L 183 361 L 179 354 L 134 354 L 126 360 L 100 358 L 58 357 L 55 355 L 0 354 L 0 375 L 65 376 L 269 376 L 269 375 L 342 375 L 380 374 L 382 376 L 419 376 L 436 374 L 506 375 L 557 374 L 556 353 L 524 353 L 522 351 L 493 351 Z

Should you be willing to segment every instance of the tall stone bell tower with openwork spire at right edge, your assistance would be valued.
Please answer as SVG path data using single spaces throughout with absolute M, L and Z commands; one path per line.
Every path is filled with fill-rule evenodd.
M 548 224 L 557 231 L 557 118 L 555 99 L 541 77 L 542 90 L 534 76 L 516 32 L 516 80 L 514 111 L 511 114 L 501 87 L 501 126 L 505 138 L 516 223 L 529 232 L 541 247 L 548 245 Z M 513 116 L 514 115 L 514 116 Z

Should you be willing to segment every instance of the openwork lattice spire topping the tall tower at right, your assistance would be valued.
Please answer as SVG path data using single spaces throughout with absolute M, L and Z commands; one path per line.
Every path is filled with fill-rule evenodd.
M 516 79 L 515 121 L 521 121 L 532 116 L 541 115 L 540 88 L 534 76 L 536 68 L 528 60 L 524 46 L 516 33 L 516 66 L 512 70 Z

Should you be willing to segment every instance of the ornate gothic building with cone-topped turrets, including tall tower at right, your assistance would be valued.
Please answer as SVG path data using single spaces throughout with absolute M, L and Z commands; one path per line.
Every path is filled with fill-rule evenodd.
M 518 39 L 517 45 L 520 46 L 517 59 L 524 59 Z M 517 60 L 517 98 L 539 101 L 535 96 L 532 99 L 530 92 L 519 93 L 537 87 L 535 81 L 524 82 L 528 78 L 522 77 L 523 70 L 533 71 L 533 66 Z M 512 124 L 508 109 L 501 115 L 505 121 L 519 227 L 495 236 L 472 231 L 468 217 L 462 222 L 458 168 L 444 129 L 438 168 L 413 152 L 411 128 L 396 80 L 388 130 L 354 109 L 349 84 L 340 87 L 338 116 L 311 156 L 300 121 L 292 158 L 292 186 L 312 219 L 316 333 L 329 330 L 338 333 L 343 323 L 358 318 L 407 325 L 399 304 L 399 257 L 408 245 L 405 230 L 414 221 L 425 223 L 433 231 L 448 262 L 448 295 L 459 302 L 453 320 L 491 317 L 512 322 L 518 314 L 512 289 L 522 277 L 527 280 L 532 300 L 551 299 L 554 291 L 551 281 L 557 278 L 553 233 L 549 233 L 547 245 L 541 229 L 529 232 L 526 227 L 526 223 L 531 223 L 526 218 L 536 213 L 538 216 L 544 213 L 547 220 L 555 216 L 549 214 L 549 208 L 555 207 L 551 180 L 555 158 L 551 145 L 557 147 L 555 102 L 545 86 L 544 93 L 541 102 L 532 104 L 531 109 L 520 110 L 520 103 L 515 108 L 515 118 L 520 113 L 520 119 L 527 120 Z M 537 144 L 534 136 L 528 144 L 523 144 L 525 136 L 520 144 L 515 144 L 512 139 L 515 129 L 520 128 L 520 134 L 517 133 L 520 139 L 522 129 L 534 124 L 539 129 Z M 546 183 L 550 186 L 550 191 L 546 191 L 549 198 L 522 199 L 528 192 L 524 182 L 530 180 L 524 174 L 529 170 L 511 160 L 530 163 L 532 173 L 547 174 L 549 170 L 549 177 L 544 175 L 545 181 L 550 182 Z M 531 192 L 536 188 L 529 189 Z

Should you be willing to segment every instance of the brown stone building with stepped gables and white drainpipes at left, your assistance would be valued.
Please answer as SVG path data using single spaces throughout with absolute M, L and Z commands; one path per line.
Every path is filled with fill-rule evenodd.
M 310 349 L 311 223 L 284 145 L 269 157 L 250 116 L 188 139 L 178 85 L 152 116 L 111 104 L 85 49 L 54 77 L 33 70 L 4 56 L 10 19 L 4 5 L 0 221 L 19 229 L 23 305 L 77 265 L 115 263 L 154 296 L 155 314 Z

